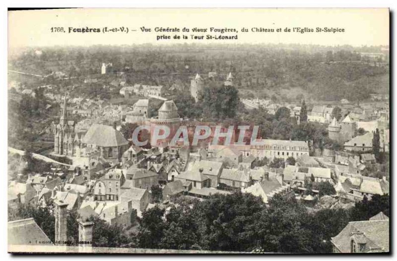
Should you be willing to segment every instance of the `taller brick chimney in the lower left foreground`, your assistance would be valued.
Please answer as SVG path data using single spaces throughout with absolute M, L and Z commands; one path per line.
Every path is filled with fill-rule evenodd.
M 65 246 L 67 241 L 67 203 L 62 200 L 54 201 L 56 206 L 55 211 L 55 244 L 59 246 Z

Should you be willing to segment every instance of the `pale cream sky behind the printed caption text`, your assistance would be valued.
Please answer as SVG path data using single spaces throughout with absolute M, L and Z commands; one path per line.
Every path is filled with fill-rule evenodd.
M 63 27 L 65 32 L 51 32 L 51 28 Z M 72 28 L 98 28 L 100 33 L 68 33 Z M 125 32 L 103 33 L 103 28 L 129 29 Z M 141 27 L 151 28 L 142 32 Z M 190 32 L 154 32 L 155 27 L 189 28 Z M 238 33 L 194 33 L 193 28 L 236 29 Z M 248 32 L 242 32 L 242 28 Z M 285 28 L 300 27 L 315 32 L 285 32 Z M 340 28 L 344 32 L 316 32 L 316 28 Z M 252 28 L 274 29 L 281 32 L 252 32 Z M 53 29 L 54 30 L 54 29 Z M 133 31 L 135 30 L 135 31 Z M 304 29 L 303 29 L 304 30 Z M 181 39 L 173 39 L 174 35 Z M 158 36 L 170 36 L 168 40 L 157 40 Z M 182 35 L 188 39 L 182 39 Z M 192 39 L 191 35 L 204 39 Z M 235 36 L 237 40 L 205 39 Z M 233 9 L 233 8 L 97 8 L 97 9 L 53 9 L 23 10 L 8 12 L 8 47 L 45 46 L 91 46 L 130 44 L 175 44 L 175 43 L 230 43 L 230 44 L 314 44 L 379 46 L 389 45 L 389 9 L 387 8 L 333 8 L 333 9 Z

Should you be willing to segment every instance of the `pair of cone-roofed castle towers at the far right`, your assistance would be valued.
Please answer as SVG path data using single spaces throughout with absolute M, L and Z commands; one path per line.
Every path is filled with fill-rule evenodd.
M 333 118 L 328 126 L 328 137 L 338 142 L 349 141 L 357 136 L 357 124 L 347 115 L 340 123 Z

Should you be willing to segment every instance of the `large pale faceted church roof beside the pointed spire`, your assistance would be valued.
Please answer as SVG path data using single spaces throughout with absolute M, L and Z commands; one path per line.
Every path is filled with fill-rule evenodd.
M 93 124 L 82 139 L 82 143 L 99 147 L 119 147 L 128 145 L 123 135 L 112 126 Z

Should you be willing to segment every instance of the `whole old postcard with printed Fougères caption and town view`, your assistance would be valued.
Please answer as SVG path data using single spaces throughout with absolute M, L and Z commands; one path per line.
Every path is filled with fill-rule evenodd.
M 389 9 L 8 11 L 8 252 L 390 253 Z

